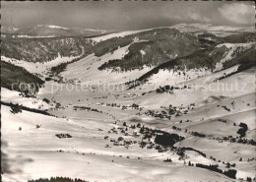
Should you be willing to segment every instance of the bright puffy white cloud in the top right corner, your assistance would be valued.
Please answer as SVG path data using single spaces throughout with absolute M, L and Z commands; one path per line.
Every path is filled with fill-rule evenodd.
M 224 4 L 218 11 L 229 22 L 240 25 L 254 24 L 255 9 L 250 4 Z

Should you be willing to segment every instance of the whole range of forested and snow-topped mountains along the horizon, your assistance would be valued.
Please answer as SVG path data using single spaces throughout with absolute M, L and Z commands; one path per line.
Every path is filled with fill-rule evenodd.
M 211 47 L 213 49 L 217 44 L 224 42 L 246 43 L 254 41 L 254 32 L 249 30 L 227 29 L 226 27 L 213 27 L 211 25 L 176 25 L 169 28 L 123 31 L 107 35 L 103 35 L 108 33 L 105 30 L 69 29 L 45 25 L 24 29 L 13 27 L 2 27 L 1 29 L 3 34 L 17 34 L 19 37 L 41 37 L 2 37 L 3 56 L 28 62 L 48 62 L 58 55 L 79 56 L 83 52 L 95 53 L 97 57 L 100 57 L 120 47 L 129 46 L 128 53 L 122 59 L 108 60 L 98 67 L 99 70 L 117 71 L 143 69 L 145 66 L 156 67 L 201 49 Z M 220 36 L 212 30 L 222 30 L 223 34 L 227 30 L 228 34 Z M 233 31 L 230 33 L 229 30 Z M 84 37 L 75 37 L 81 35 Z M 88 36 L 97 37 L 86 38 Z M 96 39 L 100 41 L 96 41 Z M 211 49 L 203 52 L 211 52 Z

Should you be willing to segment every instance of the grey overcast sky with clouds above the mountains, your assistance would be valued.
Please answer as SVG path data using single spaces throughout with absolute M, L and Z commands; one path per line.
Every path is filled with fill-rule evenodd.
M 1 25 L 56 25 L 100 30 L 141 30 L 175 24 L 254 26 L 253 2 L 75 1 L 1 2 Z M 11 21 L 12 20 L 12 21 Z

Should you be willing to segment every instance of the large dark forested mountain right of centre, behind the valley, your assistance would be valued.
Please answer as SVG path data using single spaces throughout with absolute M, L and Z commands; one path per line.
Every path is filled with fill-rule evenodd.
M 190 28 L 190 26 L 188 26 Z M 202 26 L 202 28 L 205 28 Z M 212 28 L 211 30 L 218 30 Z M 119 60 L 109 60 L 100 67 L 99 70 L 130 71 L 134 69 L 143 69 L 144 66 L 155 67 L 164 62 L 194 55 L 197 57 L 194 61 L 204 60 L 204 66 L 209 69 L 215 69 L 215 64 L 220 61 L 228 52 L 226 48 L 216 47 L 221 43 L 244 43 L 238 46 L 246 46 L 247 43 L 254 42 L 254 32 L 235 31 L 235 33 L 226 36 L 218 36 L 212 31 L 202 30 L 201 33 L 191 33 L 170 28 L 161 28 L 154 30 L 141 31 L 124 37 L 114 37 L 96 44 L 96 56 L 101 56 L 106 52 L 112 52 L 119 46 L 130 44 L 129 52 Z M 223 33 L 225 31 L 222 31 Z M 136 39 L 134 41 L 134 39 Z M 241 49 L 242 50 L 242 49 Z M 238 51 L 241 51 L 238 49 Z M 197 52 L 197 54 L 192 54 Z M 193 56 L 192 56 L 193 55 Z M 190 59 L 190 56 L 189 56 Z M 207 61 L 213 59 L 213 61 Z M 187 58 L 185 58 L 187 60 Z M 213 65 L 209 65 L 211 62 Z M 186 63 L 194 64 L 190 61 Z M 189 67 L 191 67 L 191 64 Z M 207 65 L 208 64 L 208 65 Z M 199 63 L 197 66 L 202 66 Z M 192 66 L 193 67 L 193 66 Z M 192 69 L 191 67 L 191 69 Z

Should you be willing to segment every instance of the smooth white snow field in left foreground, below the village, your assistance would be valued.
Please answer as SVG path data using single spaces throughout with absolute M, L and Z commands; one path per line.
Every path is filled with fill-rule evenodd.
M 105 149 L 109 142 L 103 140 L 104 131 L 113 126 L 107 121 L 58 119 L 27 111 L 14 115 L 7 106 L 2 106 L 1 112 L 5 113 L 2 120 L 9 121 L 2 124 L 3 141 L 7 144 L 3 152 L 7 154 L 10 170 L 14 171 L 3 175 L 7 181 L 55 175 L 93 181 L 180 181 L 189 180 L 191 176 L 196 181 L 228 180 L 204 169 L 183 166 L 178 161 L 164 163 L 158 159 L 162 154 L 157 151 L 148 152 L 136 146 L 129 150 L 122 147 Z M 38 129 L 37 124 L 40 125 Z M 103 132 L 97 132 L 97 128 Z M 69 133 L 73 138 L 58 139 L 55 137 L 58 133 Z M 109 136 L 116 138 L 114 134 Z M 63 152 L 57 152 L 59 150 Z M 177 157 L 168 153 L 164 155 Z M 182 175 L 184 172 L 187 176 Z M 122 175 L 114 175 L 116 173 Z

